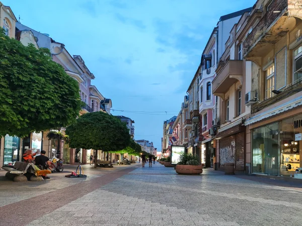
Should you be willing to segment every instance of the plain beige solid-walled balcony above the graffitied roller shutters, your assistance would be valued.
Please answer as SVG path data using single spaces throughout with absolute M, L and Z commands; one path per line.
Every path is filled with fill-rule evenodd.
M 212 82 L 214 95 L 225 93 L 237 81 L 242 83 L 242 62 L 242 60 L 229 60 L 225 64 L 222 62 L 218 65 L 217 75 Z

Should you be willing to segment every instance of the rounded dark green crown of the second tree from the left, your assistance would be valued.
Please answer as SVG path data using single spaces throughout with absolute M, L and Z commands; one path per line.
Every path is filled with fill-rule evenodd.
M 130 144 L 129 131 L 124 123 L 104 112 L 87 113 L 68 126 L 71 148 L 102 151 L 123 150 Z

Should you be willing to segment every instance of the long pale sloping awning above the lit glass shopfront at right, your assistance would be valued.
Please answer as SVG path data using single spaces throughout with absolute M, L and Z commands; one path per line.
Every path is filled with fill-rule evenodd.
M 276 107 L 274 107 L 270 110 L 264 111 L 259 115 L 253 116 L 252 118 L 248 119 L 245 122 L 245 125 L 246 126 L 251 125 L 251 124 L 256 123 L 258 121 L 261 121 L 263 119 L 266 119 L 266 118 L 272 117 L 274 115 L 280 114 L 280 113 L 282 113 L 286 110 L 290 110 L 290 109 L 292 109 L 296 106 L 299 106 L 299 105 L 302 105 L 302 97 L 301 96 L 296 97 L 296 98 L 290 100 L 289 102 L 283 103 L 279 106 L 276 106 Z

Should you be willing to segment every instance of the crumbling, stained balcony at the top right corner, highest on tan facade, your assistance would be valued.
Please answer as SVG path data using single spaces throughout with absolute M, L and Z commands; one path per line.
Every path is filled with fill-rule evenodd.
M 300 7 L 299 1 L 274 0 L 267 12 L 262 12 L 262 9 L 256 10 L 249 21 L 259 22 L 255 24 L 255 21 L 250 25 L 253 30 L 243 43 L 246 50 L 245 58 L 253 60 L 253 57 L 266 55 L 272 49 L 272 45 L 281 40 L 299 23 L 297 18 L 302 14 L 299 11 Z

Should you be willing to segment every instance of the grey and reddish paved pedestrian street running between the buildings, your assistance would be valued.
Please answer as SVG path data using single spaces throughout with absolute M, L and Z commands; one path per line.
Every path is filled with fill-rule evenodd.
M 159 163 L 84 167 L 87 179 L 0 176 L 0 225 L 302 225 L 301 185 L 211 169 L 177 175 Z

